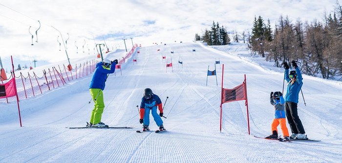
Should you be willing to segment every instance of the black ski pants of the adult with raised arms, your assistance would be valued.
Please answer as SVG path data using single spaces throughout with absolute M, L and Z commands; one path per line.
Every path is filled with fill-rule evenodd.
M 286 102 L 285 103 L 285 113 L 287 122 L 289 122 L 291 132 L 295 134 L 305 134 L 305 130 L 298 116 L 297 103 Z

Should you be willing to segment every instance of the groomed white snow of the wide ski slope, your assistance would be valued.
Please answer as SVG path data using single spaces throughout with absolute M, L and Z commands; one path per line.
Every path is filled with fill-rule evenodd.
M 160 49 L 160 51 L 157 51 Z M 192 52 L 195 49 L 195 52 Z M 141 47 L 107 78 L 102 122 L 133 129 L 68 129 L 89 121 L 93 102 L 89 77 L 45 94 L 21 100 L 18 109 L 0 103 L 0 163 L 340 163 L 342 160 L 342 83 L 303 75 L 298 114 L 308 138 L 321 142 L 278 142 L 257 139 L 271 134 L 274 109 L 271 91 L 282 91 L 283 69 L 264 58 L 251 57 L 244 44 L 205 47 L 181 43 Z M 173 51 L 174 54 L 170 52 Z M 105 58 L 120 58 L 122 51 Z M 162 59 L 166 56 L 166 59 Z M 137 58 L 133 64 L 132 58 Z M 172 69 L 166 64 L 171 62 Z M 183 61 L 178 64 L 178 59 Z M 215 76 L 208 76 L 207 69 Z M 244 101 L 223 104 L 219 131 L 222 64 L 224 88 L 234 88 L 247 76 L 251 135 L 248 135 Z M 286 84 L 286 83 L 285 83 Z M 151 88 L 163 104 L 166 132 L 150 116 L 150 132 L 136 133 L 137 105 L 143 90 Z M 286 88 L 284 89 L 284 93 Z M 288 126 L 289 132 L 291 132 Z M 282 135 L 280 127 L 279 134 Z

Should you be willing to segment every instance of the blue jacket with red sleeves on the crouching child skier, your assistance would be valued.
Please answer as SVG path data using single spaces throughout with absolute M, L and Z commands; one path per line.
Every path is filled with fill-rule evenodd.
M 144 119 L 145 108 L 152 109 L 153 107 L 157 107 L 157 106 L 158 106 L 159 112 L 162 113 L 163 104 L 159 96 L 153 94 L 152 98 L 150 98 L 149 100 L 143 97 L 141 99 L 141 104 L 140 104 L 140 119 Z

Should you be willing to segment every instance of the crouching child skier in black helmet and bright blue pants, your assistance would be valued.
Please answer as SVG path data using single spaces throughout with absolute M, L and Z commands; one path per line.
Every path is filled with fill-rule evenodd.
M 157 113 L 157 106 L 159 109 L 159 115 Z M 147 88 L 144 90 L 144 97 L 141 99 L 140 104 L 140 124 L 144 123 L 143 125 L 143 131 L 150 130 L 150 111 L 152 111 L 152 116 L 159 127 L 160 131 L 165 130 L 163 126 L 163 120 L 161 117 L 163 116 L 163 104 L 160 100 L 160 98 L 153 94 L 152 90 Z

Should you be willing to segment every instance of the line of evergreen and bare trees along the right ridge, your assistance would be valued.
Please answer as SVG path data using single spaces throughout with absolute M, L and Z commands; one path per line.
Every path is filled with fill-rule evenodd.
M 225 36 L 228 42 L 222 42 L 221 28 L 213 21 L 211 30 L 205 30 L 202 36 L 196 34 L 196 40 L 203 40 L 208 45 L 229 44 L 228 34 Z M 272 29 L 269 19 L 265 23 L 258 16 L 254 18 L 251 33 L 238 35 L 233 31 L 231 36 L 235 42 L 247 42 L 253 53 L 275 62 L 277 67 L 285 61 L 297 60 L 301 62 L 299 68 L 304 74 L 342 80 L 337 78 L 342 76 L 342 6 L 338 1 L 335 10 L 325 14 L 322 22 L 299 19 L 291 22 L 288 17 L 280 16 Z

